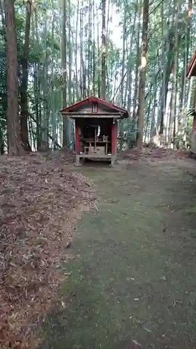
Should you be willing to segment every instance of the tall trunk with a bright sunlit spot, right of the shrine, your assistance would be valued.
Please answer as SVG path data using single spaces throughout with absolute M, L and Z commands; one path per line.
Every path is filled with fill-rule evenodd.
M 144 103 L 146 68 L 148 54 L 148 27 L 149 27 L 149 0 L 143 3 L 143 24 L 142 24 L 142 54 L 140 66 L 139 101 L 137 110 L 137 147 L 142 148 L 143 128 L 144 128 Z

